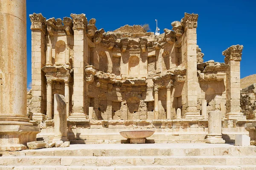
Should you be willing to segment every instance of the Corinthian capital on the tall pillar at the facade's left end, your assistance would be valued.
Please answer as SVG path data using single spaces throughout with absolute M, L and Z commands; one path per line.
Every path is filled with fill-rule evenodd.
M 39 14 L 30 14 L 29 15 L 30 21 L 31 21 L 31 27 L 30 29 L 38 29 L 45 33 L 46 31 L 46 18 L 43 17 L 41 13 Z

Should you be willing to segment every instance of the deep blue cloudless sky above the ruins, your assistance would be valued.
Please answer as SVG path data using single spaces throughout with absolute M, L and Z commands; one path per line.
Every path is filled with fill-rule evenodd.
M 27 0 L 27 67 L 31 82 L 31 30 L 29 14 L 42 13 L 51 17 L 70 17 L 84 13 L 96 19 L 98 29 L 106 32 L 120 26 L 148 23 L 154 32 L 158 20 L 160 33 L 172 29 L 172 21 L 184 12 L 199 14 L 197 38 L 204 61 L 224 62 L 222 52 L 231 45 L 244 46 L 241 78 L 256 74 L 256 1 L 255 0 Z

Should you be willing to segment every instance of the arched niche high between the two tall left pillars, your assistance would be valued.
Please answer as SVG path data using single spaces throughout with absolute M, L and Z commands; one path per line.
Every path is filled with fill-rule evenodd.
M 57 41 L 55 44 L 55 64 L 64 64 L 65 63 L 65 53 L 66 43 L 63 40 Z

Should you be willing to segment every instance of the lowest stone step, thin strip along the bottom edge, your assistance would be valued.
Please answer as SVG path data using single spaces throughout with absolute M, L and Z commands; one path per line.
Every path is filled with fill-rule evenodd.
M 214 165 L 194 165 L 194 166 L 0 166 L 0 170 L 256 170 L 255 165 L 251 166 L 214 166 Z

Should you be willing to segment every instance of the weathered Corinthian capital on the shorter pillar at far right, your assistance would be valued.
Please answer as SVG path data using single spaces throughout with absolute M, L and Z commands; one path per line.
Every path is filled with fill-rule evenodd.
M 242 45 L 233 45 L 227 48 L 224 52 L 222 52 L 222 55 L 225 56 L 225 63 L 231 60 L 241 61 L 243 48 L 244 46 Z

